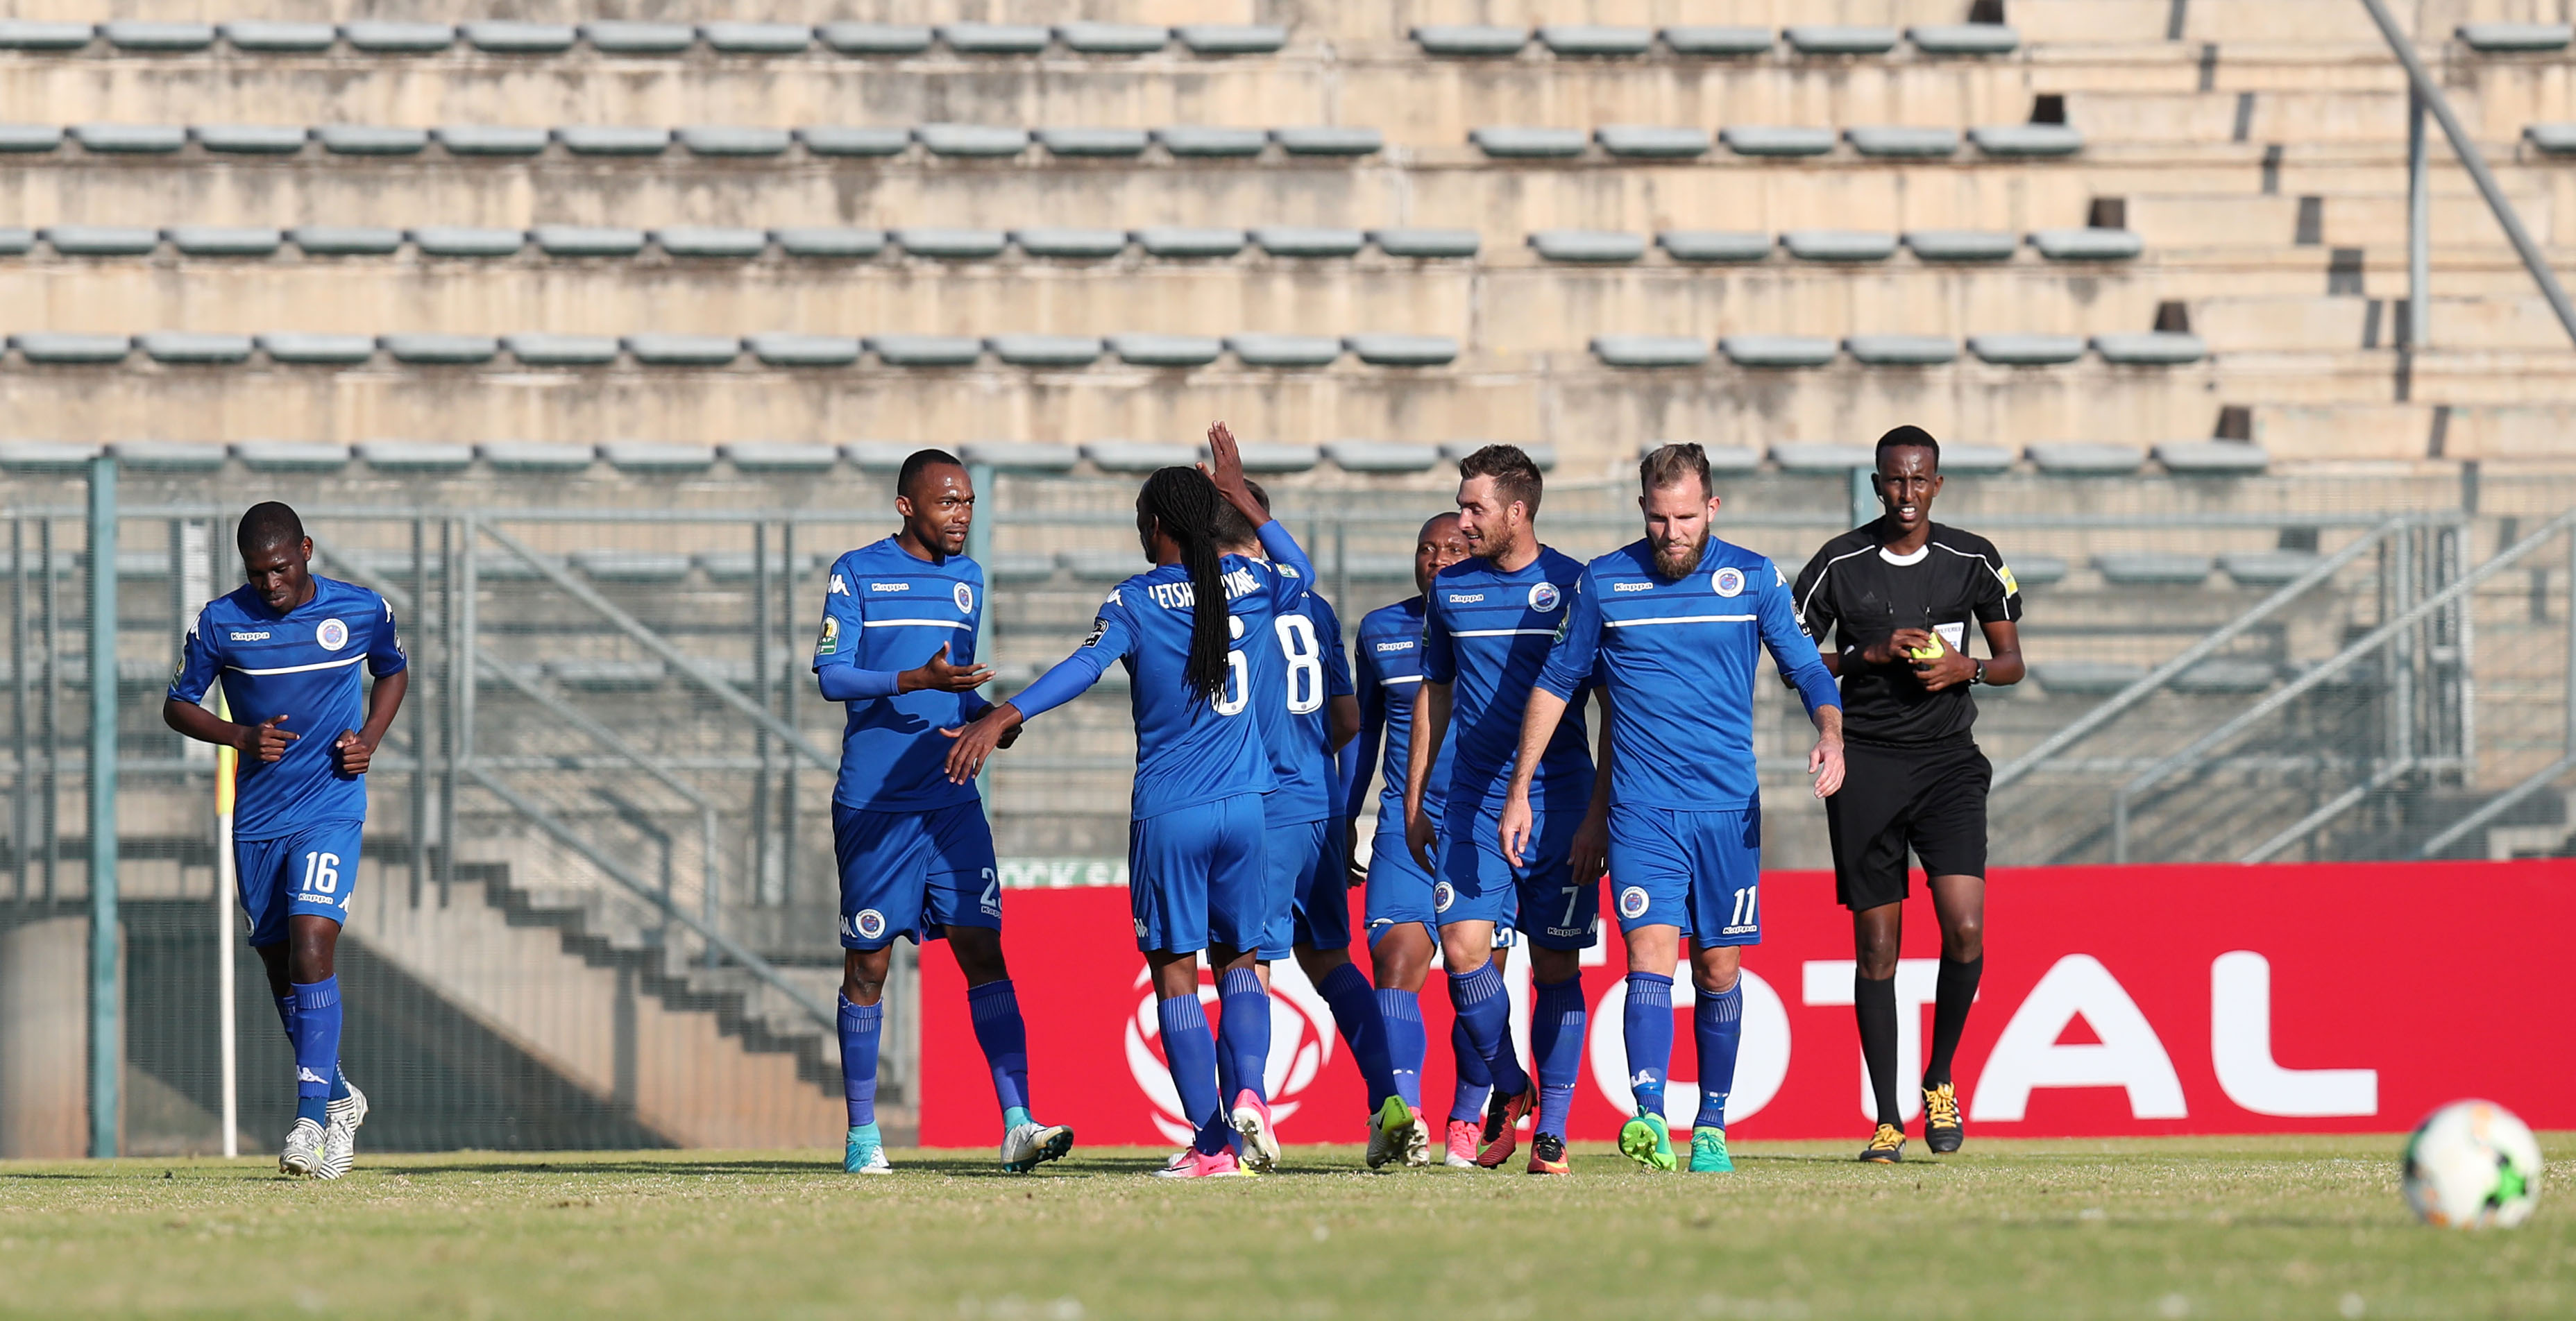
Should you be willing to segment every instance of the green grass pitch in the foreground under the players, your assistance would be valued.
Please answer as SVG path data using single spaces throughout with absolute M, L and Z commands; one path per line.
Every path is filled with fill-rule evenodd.
M 1919 1148 L 1919 1143 L 1917 1143 Z M 984 1154 L 0 1164 L 0 1313 L 1832 1318 L 2568 1316 L 2576 1136 L 2540 1213 L 2419 1228 L 2398 1138 L 1971 1141 L 1860 1166 L 1749 1143 L 1731 1177 L 1368 1174 L 1291 1148 L 1170 1185 L 1162 1151 L 1033 1177 Z

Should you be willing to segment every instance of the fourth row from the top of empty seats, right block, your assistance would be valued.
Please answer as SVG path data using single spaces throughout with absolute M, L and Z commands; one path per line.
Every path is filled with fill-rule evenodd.
M 2200 335 L 2143 330 L 2133 335 L 1971 335 L 1968 353 L 1994 366 L 2061 366 L 2092 348 L 2105 363 L 2184 366 L 2208 358 Z M 1947 335 L 1721 335 L 1716 353 L 1739 368 L 1819 368 L 1850 353 L 1868 366 L 1955 363 L 1960 345 Z M 1698 335 L 1595 335 L 1592 355 L 1615 368 L 1708 366 L 1710 345 Z M 2136 464 L 2130 464 L 2136 466 Z

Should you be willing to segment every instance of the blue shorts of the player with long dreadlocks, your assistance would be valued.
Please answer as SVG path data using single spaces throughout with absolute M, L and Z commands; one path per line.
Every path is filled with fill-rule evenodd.
M 1136 948 L 1260 950 L 1270 917 L 1262 796 L 1236 793 L 1128 821 L 1128 912 Z

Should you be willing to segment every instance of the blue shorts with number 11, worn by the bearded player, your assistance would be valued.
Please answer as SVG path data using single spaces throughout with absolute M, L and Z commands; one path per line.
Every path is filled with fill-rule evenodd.
M 1744 811 L 1610 809 L 1618 930 L 1682 927 L 1692 945 L 1762 942 L 1762 803 Z

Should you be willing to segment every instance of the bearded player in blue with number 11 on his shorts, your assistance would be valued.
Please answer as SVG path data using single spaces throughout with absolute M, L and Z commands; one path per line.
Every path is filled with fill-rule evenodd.
M 1538 827 L 1530 765 L 1587 682 L 1610 698 L 1610 888 L 1628 937 L 1628 1084 L 1636 1118 L 1620 1151 L 1672 1169 L 1664 1069 L 1672 1063 L 1672 971 L 1690 937 L 1698 991 L 1700 1112 L 1690 1169 L 1734 1169 L 1726 1092 L 1736 1074 L 1744 945 L 1762 942 L 1762 780 L 1754 767 L 1754 667 L 1798 685 L 1816 721 L 1806 757 L 1816 798 L 1842 788 L 1842 695 L 1770 559 L 1708 536 L 1718 494 L 1700 445 L 1664 445 L 1638 464 L 1646 538 L 1584 567 L 1571 618 L 1530 690 L 1520 762 L 1502 809 L 1515 863 Z

